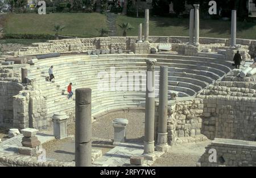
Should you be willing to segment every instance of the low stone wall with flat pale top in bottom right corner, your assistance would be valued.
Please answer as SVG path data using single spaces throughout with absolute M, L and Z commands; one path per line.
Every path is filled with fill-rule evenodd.
M 216 150 L 216 154 L 212 150 Z M 210 151 L 209 151 L 210 150 Z M 216 155 L 216 160 L 214 157 Z M 209 156 L 211 162 L 209 162 Z M 206 147 L 205 153 L 199 160 L 201 167 L 255 167 L 256 142 L 216 138 Z

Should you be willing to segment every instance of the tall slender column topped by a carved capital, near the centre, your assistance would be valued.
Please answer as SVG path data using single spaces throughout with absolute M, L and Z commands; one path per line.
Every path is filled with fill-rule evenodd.
M 144 133 L 144 156 L 155 159 L 154 125 L 155 125 L 155 63 L 156 59 L 147 59 L 146 111 Z

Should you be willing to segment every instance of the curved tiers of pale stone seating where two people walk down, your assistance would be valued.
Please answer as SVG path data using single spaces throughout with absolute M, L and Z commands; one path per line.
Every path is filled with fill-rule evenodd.
M 146 58 L 158 60 L 155 68 L 155 92 L 159 92 L 159 66 L 168 65 L 168 92 L 177 93 L 178 97 L 195 96 L 197 92 L 212 84 L 218 78 L 230 72 L 230 61 L 209 59 L 205 57 L 188 57 L 177 55 L 76 55 L 61 56 L 52 59 L 39 60 L 28 69 L 28 78 L 34 78 L 35 83 L 47 97 L 47 117 L 51 118 L 56 111 L 74 112 L 75 101 L 67 99 L 67 86 L 73 83 L 73 98 L 76 88 L 92 88 L 92 115 L 98 115 L 113 109 L 143 107 L 146 94 Z M 55 82 L 46 81 L 48 68 L 53 65 Z M 137 79 L 139 91 L 111 91 L 110 80 L 106 88 L 98 84 L 102 76 L 99 72 L 106 72 L 110 78 L 110 69 L 115 72 L 139 72 Z M 125 78 L 119 82 L 126 81 Z M 127 81 L 129 81 L 127 79 Z M 126 89 L 133 88 L 134 83 L 128 84 Z M 65 91 L 65 92 L 63 92 Z

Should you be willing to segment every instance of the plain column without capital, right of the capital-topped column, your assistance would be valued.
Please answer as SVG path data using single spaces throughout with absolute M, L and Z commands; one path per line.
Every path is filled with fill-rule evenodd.
M 160 67 L 158 143 L 156 150 L 167 152 L 168 66 Z

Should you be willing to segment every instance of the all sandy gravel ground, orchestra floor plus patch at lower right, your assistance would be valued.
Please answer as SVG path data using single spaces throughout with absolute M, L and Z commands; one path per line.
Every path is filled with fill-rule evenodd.
M 111 139 L 113 139 L 114 135 L 112 125 L 114 118 L 128 119 L 128 142 L 142 142 L 143 140 L 143 110 L 121 111 L 104 115 L 103 117 L 98 118 L 97 121 L 93 122 L 92 124 L 92 148 L 101 149 L 102 154 L 105 154 L 113 148 Z M 68 135 L 75 135 L 75 123 L 68 126 Z M 199 160 L 200 156 L 204 154 L 205 147 L 209 143 L 210 140 L 199 143 L 188 143 L 172 146 L 171 150 L 156 160 L 152 166 L 196 166 L 197 160 Z M 73 136 L 69 136 L 69 138 L 63 140 L 52 140 L 51 142 L 43 144 L 43 148 L 46 149 L 48 159 L 56 159 L 65 162 L 70 162 L 75 159 L 75 138 Z

